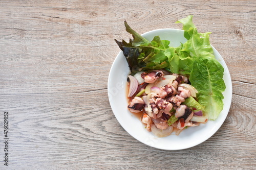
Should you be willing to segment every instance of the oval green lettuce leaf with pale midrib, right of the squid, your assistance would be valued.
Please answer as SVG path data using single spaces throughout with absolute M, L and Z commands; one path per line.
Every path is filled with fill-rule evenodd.
M 198 90 L 198 103 L 205 106 L 209 118 L 215 120 L 223 109 L 226 86 L 224 68 L 215 58 L 198 58 L 194 61 L 189 81 Z

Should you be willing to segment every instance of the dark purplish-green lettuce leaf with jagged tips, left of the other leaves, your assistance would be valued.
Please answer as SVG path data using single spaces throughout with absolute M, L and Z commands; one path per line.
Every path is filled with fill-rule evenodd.
M 133 40 L 127 43 L 124 40 L 116 41 L 123 51 L 132 74 L 142 69 L 162 69 L 169 67 L 169 60 L 174 55 L 175 48 L 169 47 L 170 41 L 161 40 L 159 36 L 149 42 L 137 32 L 135 32 L 126 21 L 124 21 L 126 31 L 133 35 Z

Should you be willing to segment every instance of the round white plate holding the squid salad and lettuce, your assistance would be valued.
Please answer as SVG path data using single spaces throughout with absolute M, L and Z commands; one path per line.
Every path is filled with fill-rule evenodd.
M 169 40 L 169 46 L 179 46 L 180 42 L 186 42 L 183 36 L 183 30 L 177 29 L 159 29 L 142 34 L 147 40 L 152 40 L 154 36 L 159 35 L 162 40 Z M 183 130 L 179 136 L 172 134 L 167 137 L 156 137 L 152 132 L 148 132 L 139 118 L 127 109 L 126 81 L 130 69 L 122 54 L 117 55 L 110 70 L 108 81 L 108 95 L 111 108 L 123 129 L 135 139 L 151 147 L 163 150 L 182 150 L 194 147 L 215 134 L 223 124 L 231 104 L 232 84 L 226 63 L 217 50 L 214 50 L 216 59 L 224 67 L 224 82 L 226 90 L 224 95 L 224 109 L 215 121 L 208 121 L 206 124 L 200 124 L 198 127 L 190 127 Z

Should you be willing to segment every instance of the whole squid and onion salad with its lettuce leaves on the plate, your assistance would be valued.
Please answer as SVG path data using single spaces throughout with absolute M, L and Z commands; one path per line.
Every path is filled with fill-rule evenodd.
M 224 68 L 213 55 L 210 33 L 198 33 L 192 18 L 177 21 L 187 39 L 178 47 L 159 36 L 148 41 L 126 21 L 133 39 L 115 39 L 131 70 L 127 108 L 141 114 L 145 129 L 159 137 L 215 120 L 223 109 Z

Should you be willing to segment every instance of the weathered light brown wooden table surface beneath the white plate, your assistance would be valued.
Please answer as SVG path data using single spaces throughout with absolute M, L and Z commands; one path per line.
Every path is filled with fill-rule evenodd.
M 255 9 L 253 0 L 1 1 L 0 169 L 256 169 Z M 174 22 L 189 14 L 200 32 L 212 32 L 228 66 L 231 108 L 196 147 L 154 149 L 124 131 L 111 110 L 114 38 L 131 37 L 124 20 L 144 33 L 181 29 Z

